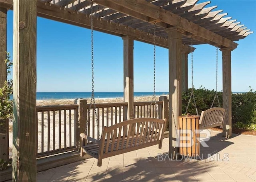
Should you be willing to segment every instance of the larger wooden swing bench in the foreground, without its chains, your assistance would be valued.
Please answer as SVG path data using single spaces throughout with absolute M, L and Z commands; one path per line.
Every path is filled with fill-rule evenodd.
M 161 149 L 165 125 L 166 119 L 144 117 L 103 127 L 100 141 L 81 133 L 81 156 L 87 153 L 101 166 L 102 159 L 114 155 L 156 144 Z M 92 143 L 86 144 L 87 140 Z

